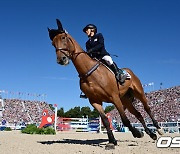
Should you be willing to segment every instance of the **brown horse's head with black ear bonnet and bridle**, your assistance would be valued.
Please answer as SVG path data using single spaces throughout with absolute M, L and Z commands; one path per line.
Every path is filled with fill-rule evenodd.
M 61 65 L 69 64 L 75 50 L 74 44 L 68 34 L 63 30 L 61 22 L 56 19 L 58 29 L 49 29 L 49 37 L 52 45 L 56 49 L 57 63 Z

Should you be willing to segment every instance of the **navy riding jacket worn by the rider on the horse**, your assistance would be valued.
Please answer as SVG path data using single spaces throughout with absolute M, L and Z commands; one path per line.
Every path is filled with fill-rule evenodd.
M 101 59 L 105 55 L 110 55 L 105 49 L 104 37 L 101 33 L 89 38 L 86 42 L 86 50 L 92 58 Z

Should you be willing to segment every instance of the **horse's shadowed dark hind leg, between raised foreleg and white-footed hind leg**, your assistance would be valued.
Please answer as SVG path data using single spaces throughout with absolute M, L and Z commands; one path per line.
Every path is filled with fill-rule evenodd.
M 126 105 L 126 108 L 129 110 L 130 113 L 132 113 L 133 115 L 135 115 L 135 117 L 142 123 L 145 132 L 153 139 L 156 140 L 157 136 L 156 134 L 154 134 L 147 126 L 146 123 L 141 115 L 140 112 L 138 112 L 136 110 L 136 108 L 133 106 L 132 102 L 127 98 L 127 97 L 123 97 L 122 99 L 123 104 Z

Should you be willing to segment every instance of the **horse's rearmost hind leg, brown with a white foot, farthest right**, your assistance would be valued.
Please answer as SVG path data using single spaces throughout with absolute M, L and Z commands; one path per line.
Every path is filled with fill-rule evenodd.
M 152 112 L 150 110 L 150 107 L 148 105 L 148 101 L 147 101 L 147 99 L 145 97 L 144 90 L 143 90 L 142 86 L 141 85 L 139 85 L 138 87 L 135 86 L 133 94 L 137 99 L 139 99 L 143 103 L 144 109 L 148 113 L 150 118 L 152 119 L 152 122 L 153 122 L 154 126 L 157 128 L 158 133 L 160 135 L 162 135 L 163 132 L 162 132 L 160 126 L 158 125 L 158 122 L 154 119 L 154 116 L 153 116 L 153 114 L 152 114 Z

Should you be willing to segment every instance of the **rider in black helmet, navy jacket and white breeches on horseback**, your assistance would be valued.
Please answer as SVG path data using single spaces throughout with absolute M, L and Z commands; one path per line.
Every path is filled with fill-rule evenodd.
M 88 55 L 98 60 L 104 60 L 114 72 L 116 79 L 120 81 L 121 84 L 124 83 L 127 76 L 117 67 L 116 63 L 113 62 L 110 57 L 110 54 L 106 51 L 104 37 L 101 33 L 97 33 L 97 27 L 93 24 L 88 24 L 84 27 L 83 32 L 86 33 L 89 38 L 86 42 Z

